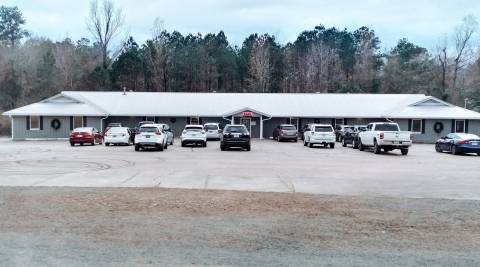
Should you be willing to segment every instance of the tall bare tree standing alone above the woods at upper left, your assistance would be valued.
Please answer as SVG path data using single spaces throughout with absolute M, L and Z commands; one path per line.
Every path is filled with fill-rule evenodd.
M 109 46 L 120 33 L 124 20 L 122 9 L 115 9 L 112 0 L 102 0 L 101 7 L 99 7 L 98 0 L 90 2 L 90 17 L 87 21 L 87 27 L 101 48 L 104 68 L 109 65 Z

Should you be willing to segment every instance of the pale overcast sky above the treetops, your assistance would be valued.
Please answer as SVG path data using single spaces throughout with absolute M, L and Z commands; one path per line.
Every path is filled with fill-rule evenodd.
M 285 44 L 316 25 L 357 29 L 368 26 L 391 48 L 403 37 L 428 49 L 451 34 L 461 19 L 480 17 L 478 0 L 116 0 L 125 14 L 125 30 L 137 41 L 150 38 L 153 21 L 166 30 L 208 33 L 223 30 L 241 45 L 250 33 L 270 33 Z M 17 5 L 26 28 L 37 36 L 62 40 L 90 38 L 87 0 L 2 0 Z M 91 39 L 91 38 L 90 38 Z

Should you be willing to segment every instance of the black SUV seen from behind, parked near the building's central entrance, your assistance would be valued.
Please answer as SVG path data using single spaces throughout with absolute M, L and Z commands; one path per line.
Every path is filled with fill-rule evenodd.
M 225 151 L 231 147 L 239 147 L 251 150 L 250 133 L 243 124 L 227 124 L 222 132 L 220 150 Z

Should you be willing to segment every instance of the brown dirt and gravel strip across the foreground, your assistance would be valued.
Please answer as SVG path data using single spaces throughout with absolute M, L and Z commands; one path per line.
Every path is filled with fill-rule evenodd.
M 478 266 L 480 202 L 0 187 L 0 265 Z

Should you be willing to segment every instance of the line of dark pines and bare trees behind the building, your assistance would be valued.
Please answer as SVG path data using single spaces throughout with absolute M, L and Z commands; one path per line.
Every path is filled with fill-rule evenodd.
M 33 37 L 17 7 L 0 7 L 0 109 L 62 90 L 261 93 L 424 93 L 480 110 L 477 22 L 467 16 L 436 49 L 400 39 L 387 52 L 369 27 L 319 25 L 287 44 L 254 33 L 240 46 L 223 31 L 187 34 L 158 26 L 113 49 L 124 16 L 91 2 L 89 38 Z

